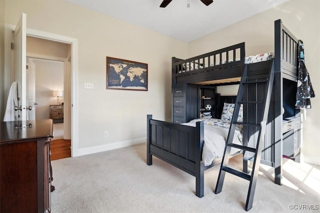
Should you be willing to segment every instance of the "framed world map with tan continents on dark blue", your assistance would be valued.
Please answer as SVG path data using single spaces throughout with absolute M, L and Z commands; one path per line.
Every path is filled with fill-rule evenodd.
M 106 57 L 106 88 L 148 90 L 148 64 Z

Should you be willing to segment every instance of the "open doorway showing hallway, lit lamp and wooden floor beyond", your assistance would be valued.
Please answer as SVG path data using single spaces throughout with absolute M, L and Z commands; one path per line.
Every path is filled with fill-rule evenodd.
M 50 143 L 51 160 L 71 156 L 71 45 L 34 36 L 26 37 L 28 73 L 27 105 L 32 105 L 35 119 L 53 120 L 53 138 Z M 30 82 L 30 81 L 34 82 Z M 30 86 L 28 86 L 30 84 Z M 32 88 L 32 85 L 33 88 Z M 57 92 L 58 91 L 58 92 Z M 56 96 L 58 93 L 59 96 Z M 30 97 L 30 98 L 29 98 Z

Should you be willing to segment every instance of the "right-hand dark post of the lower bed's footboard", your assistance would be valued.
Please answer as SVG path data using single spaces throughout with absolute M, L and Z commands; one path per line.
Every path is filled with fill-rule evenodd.
M 203 147 L 203 122 L 196 122 L 195 141 L 199 141 L 195 147 L 195 195 L 203 196 L 203 182 L 204 182 L 204 164 L 201 161 L 202 147 Z

